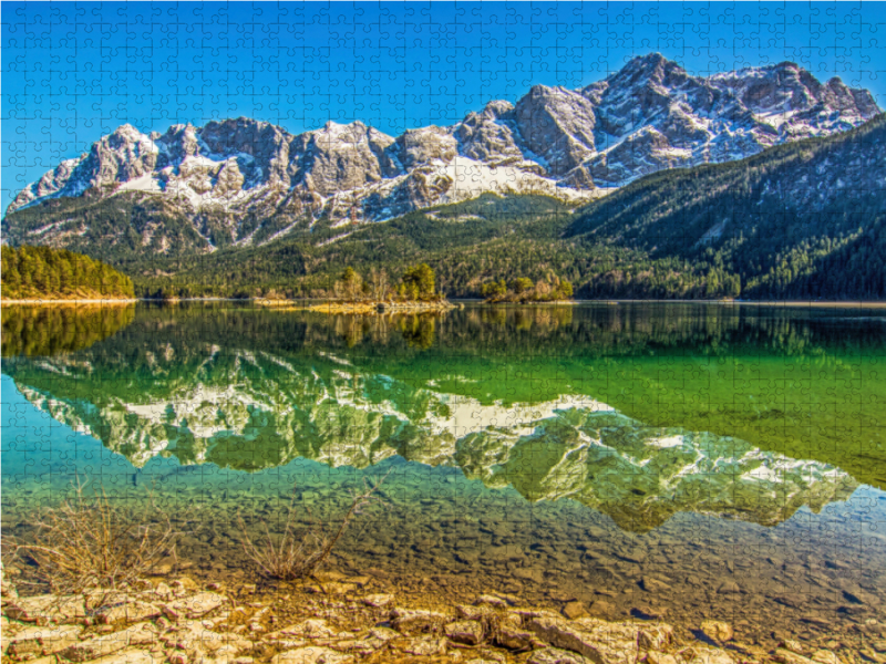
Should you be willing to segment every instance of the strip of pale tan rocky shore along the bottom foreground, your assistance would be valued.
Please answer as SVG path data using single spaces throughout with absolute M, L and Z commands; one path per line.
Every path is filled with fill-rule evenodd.
M 575 602 L 562 613 L 488 592 L 471 603 L 402 602 L 373 577 L 318 574 L 257 587 L 155 577 L 119 590 L 19 596 L 2 587 L 2 657 L 31 664 L 854 664 L 886 662 L 869 646 L 785 641 L 763 650 L 721 621 L 674 627 L 609 622 Z

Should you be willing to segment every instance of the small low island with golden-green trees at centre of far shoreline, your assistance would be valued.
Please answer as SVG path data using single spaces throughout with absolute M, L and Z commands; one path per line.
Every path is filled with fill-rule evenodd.
M 446 311 L 455 305 L 436 290 L 433 269 L 427 263 L 406 268 L 396 283 L 387 270 L 371 269 L 364 279 L 348 267 L 332 284 L 334 298 L 307 307 L 293 307 L 292 300 L 256 300 L 265 307 L 318 311 L 320 313 L 418 313 Z

